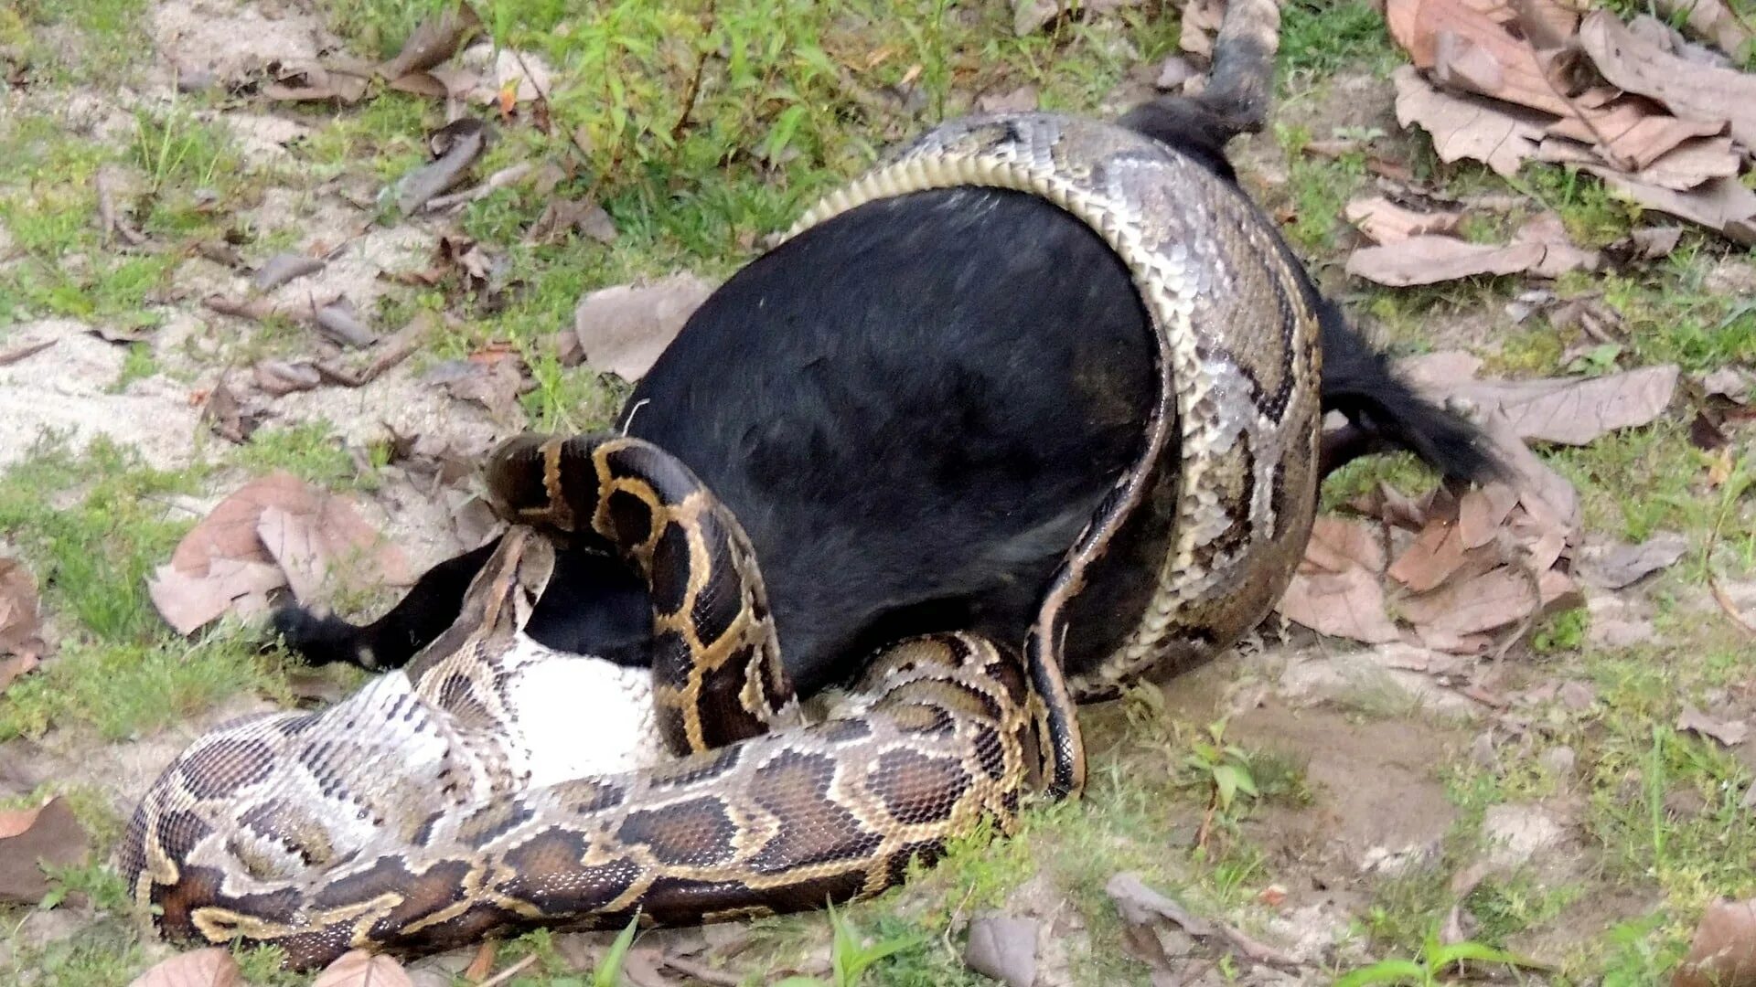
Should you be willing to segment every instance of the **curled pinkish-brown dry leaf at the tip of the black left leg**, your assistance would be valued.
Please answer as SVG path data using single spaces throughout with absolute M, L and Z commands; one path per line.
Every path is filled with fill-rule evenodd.
M 221 501 L 148 583 L 153 606 L 179 634 L 191 634 L 227 611 L 239 616 L 263 613 L 269 594 L 288 585 L 276 548 L 291 555 L 263 541 L 263 515 L 270 508 L 309 520 L 318 532 L 316 551 L 325 573 L 335 564 L 358 564 L 365 580 L 395 587 L 413 581 L 402 550 L 383 541 L 351 502 L 288 472 L 276 472 Z M 279 530 L 270 522 L 269 536 Z

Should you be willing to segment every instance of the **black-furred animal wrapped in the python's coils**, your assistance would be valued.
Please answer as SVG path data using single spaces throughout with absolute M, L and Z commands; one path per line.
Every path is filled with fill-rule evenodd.
M 1252 114 L 1166 98 L 1122 123 L 1236 181 L 1224 144 Z M 1322 402 L 1350 421 L 1326 469 L 1408 450 L 1450 478 L 1486 476 L 1477 432 L 1412 393 L 1319 304 Z M 808 695 L 906 634 L 1024 638 L 1055 566 L 1138 455 L 1154 393 L 1148 332 L 1127 270 L 1055 205 L 996 190 L 913 193 L 739 270 L 641 381 L 620 427 L 680 457 L 736 511 Z M 363 627 L 297 606 L 276 627 L 311 662 L 400 666 L 455 620 L 492 551 L 435 566 Z M 1117 620 L 1080 622 L 1069 671 L 1117 643 L 1155 567 L 1143 558 L 1085 594 Z M 529 632 L 644 664 L 650 622 L 634 576 L 569 551 Z

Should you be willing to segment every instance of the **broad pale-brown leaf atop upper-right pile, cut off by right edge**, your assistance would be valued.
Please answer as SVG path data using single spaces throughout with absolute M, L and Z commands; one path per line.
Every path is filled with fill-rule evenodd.
M 1610 84 L 1651 97 L 1684 119 L 1726 121 L 1740 144 L 1756 148 L 1756 76 L 1695 65 L 1637 37 L 1607 11 L 1586 16 L 1579 46 Z

